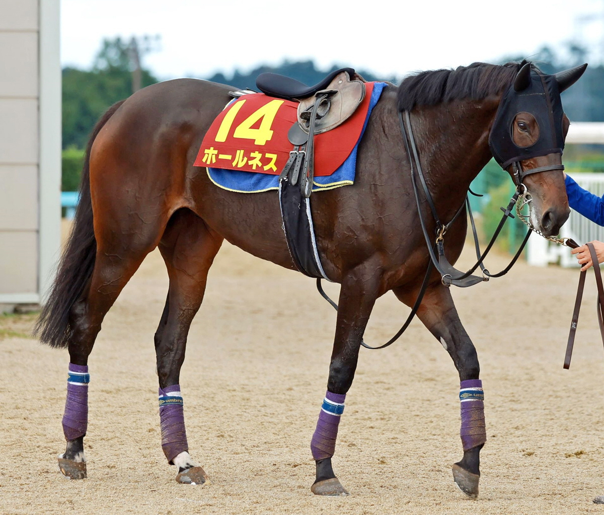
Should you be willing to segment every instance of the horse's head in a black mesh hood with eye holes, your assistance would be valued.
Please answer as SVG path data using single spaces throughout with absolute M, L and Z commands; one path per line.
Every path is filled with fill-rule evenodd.
M 495 160 L 530 195 L 530 223 L 544 236 L 557 235 L 570 214 L 562 173 L 569 121 L 560 94 L 586 67 L 545 75 L 525 63 L 501 99 L 489 136 Z

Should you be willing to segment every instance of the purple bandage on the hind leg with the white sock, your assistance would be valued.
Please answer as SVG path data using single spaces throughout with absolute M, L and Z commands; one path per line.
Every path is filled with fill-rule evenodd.
M 172 464 L 176 456 L 188 451 L 181 387 L 178 384 L 159 389 L 159 420 L 161 447 L 168 462 Z

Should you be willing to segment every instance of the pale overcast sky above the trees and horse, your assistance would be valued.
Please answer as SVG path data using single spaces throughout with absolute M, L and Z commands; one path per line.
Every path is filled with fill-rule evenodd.
M 592 62 L 604 48 L 604 0 L 62 0 L 61 9 L 63 65 L 88 68 L 103 37 L 159 34 L 143 64 L 161 79 L 286 58 L 402 77 L 569 40 L 588 44 Z

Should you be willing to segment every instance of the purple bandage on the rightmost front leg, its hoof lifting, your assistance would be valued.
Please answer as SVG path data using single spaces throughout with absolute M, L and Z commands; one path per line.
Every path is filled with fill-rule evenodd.
M 463 450 L 472 449 L 487 441 L 484 425 L 483 381 L 470 379 L 461 381 L 459 390 L 461 402 L 461 443 Z

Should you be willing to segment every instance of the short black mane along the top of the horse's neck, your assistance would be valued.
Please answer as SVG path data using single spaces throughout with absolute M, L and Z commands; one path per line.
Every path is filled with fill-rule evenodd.
M 400 111 L 416 106 L 431 106 L 451 100 L 481 100 L 499 94 L 511 83 L 518 70 L 527 63 L 509 62 L 504 65 L 472 63 L 455 70 L 420 71 L 400 83 L 397 94 Z M 535 65 L 531 65 L 535 68 Z

